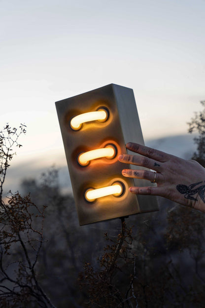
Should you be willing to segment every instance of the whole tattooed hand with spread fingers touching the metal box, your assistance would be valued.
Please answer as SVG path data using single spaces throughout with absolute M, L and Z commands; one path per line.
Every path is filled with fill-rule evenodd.
M 119 161 L 156 171 L 123 169 L 125 177 L 157 183 L 157 187 L 130 187 L 130 192 L 163 196 L 205 212 L 205 168 L 197 161 L 185 160 L 131 142 L 126 147 L 143 156 L 122 154 L 118 157 Z

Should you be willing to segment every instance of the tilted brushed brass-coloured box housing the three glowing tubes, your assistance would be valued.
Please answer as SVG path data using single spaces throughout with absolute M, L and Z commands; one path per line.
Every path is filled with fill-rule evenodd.
M 80 225 L 158 210 L 155 197 L 144 196 L 146 198 L 140 199 L 129 192 L 130 186 L 141 185 L 143 181 L 137 180 L 134 184 L 133 179 L 123 177 L 122 169 L 130 166 L 117 159 L 119 154 L 127 153 L 127 142 L 143 144 L 132 89 L 110 84 L 56 102 L 56 108 Z M 101 109 L 108 111 L 105 121 L 88 121 L 78 130 L 71 128 L 70 120 L 73 117 Z M 114 158 L 93 159 L 85 166 L 78 163 L 80 153 L 104 148 L 110 144 L 117 150 Z M 110 186 L 114 182 L 123 184 L 124 192 L 121 196 L 108 195 L 94 202 L 86 200 L 86 190 Z

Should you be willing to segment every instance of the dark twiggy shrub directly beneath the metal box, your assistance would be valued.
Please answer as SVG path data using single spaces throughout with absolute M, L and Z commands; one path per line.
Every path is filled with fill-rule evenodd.
M 91 264 L 85 263 L 84 273 L 79 275 L 81 289 L 85 288 L 89 294 L 88 307 L 118 307 L 131 302 L 137 305 L 134 294 L 137 256 L 132 252 L 132 228 L 127 228 L 124 218 L 121 222 L 122 230 L 116 239 L 108 238 L 105 233 L 109 244 L 104 247 L 99 260 L 100 270 L 96 271 Z M 134 269 L 133 273 L 128 270 L 130 267 Z M 123 284 L 119 283 L 119 272 Z

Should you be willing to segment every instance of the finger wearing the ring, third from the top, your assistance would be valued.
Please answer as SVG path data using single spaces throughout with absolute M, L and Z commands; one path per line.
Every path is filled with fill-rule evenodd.
M 127 178 L 144 179 L 150 182 L 159 183 L 162 181 L 162 175 L 160 173 L 148 171 L 148 170 L 132 170 L 123 169 L 122 175 Z

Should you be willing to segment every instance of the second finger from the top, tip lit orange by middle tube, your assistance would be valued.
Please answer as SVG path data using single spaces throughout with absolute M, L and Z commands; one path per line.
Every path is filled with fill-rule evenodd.
M 121 154 L 118 156 L 118 160 L 132 165 L 143 166 L 158 172 L 162 171 L 161 162 L 145 156 Z

